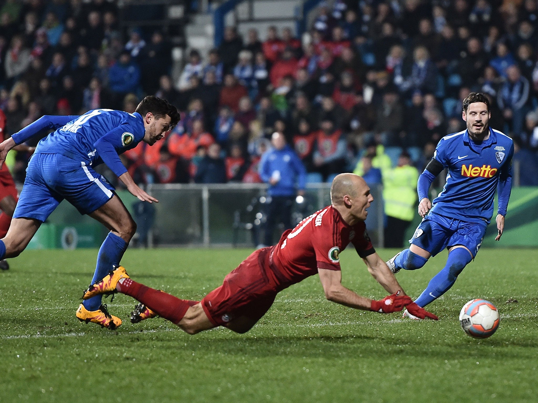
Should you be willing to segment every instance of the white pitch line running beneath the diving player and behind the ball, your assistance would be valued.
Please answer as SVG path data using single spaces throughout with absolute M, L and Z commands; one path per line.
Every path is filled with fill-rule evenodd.
M 500 315 L 501 319 L 515 319 L 515 318 L 538 318 L 538 314 L 514 314 L 514 315 Z M 303 325 L 298 325 L 296 323 L 286 323 L 286 324 L 280 324 L 277 325 L 277 327 L 303 327 L 303 328 L 318 328 L 318 327 L 326 327 L 326 326 L 353 326 L 353 325 L 387 325 L 387 324 L 393 324 L 393 323 L 403 323 L 410 321 L 409 319 L 391 319 L 388 321 L 381 320 L 367 320 L 367 321 L 347 321 L 347 322 L 322 322 L 322 323 L 305 323 Z M 413 321 L 411 321 L 413 322 Z M 257 325 L 257 327 L 263 327 L 263 326 L 275 326 L 275 325 Z M 213 330 L 224 330 L 224 328 L 216 328 Z M 180 332 L 181 330 L 179 328 L 166 328 L 166 329 L 153 329 L 153 330 L 135 330 L 134 332 L 128 332 L 128 333 L 120 333 L 122 334 L 144 334 L 144 333 L 165 333 L 165 332 Z M 72 332 L 72 333 L 61 333 L 61 334 L 21 334 L 21 335 L 12 335 L 12 336 L 2 336 L 0 337 L 0 340 L 11 340 L 11 339 L 53 339 L 58 337 L 81 337 L 86 336 L 87 333 L 85 332 Z

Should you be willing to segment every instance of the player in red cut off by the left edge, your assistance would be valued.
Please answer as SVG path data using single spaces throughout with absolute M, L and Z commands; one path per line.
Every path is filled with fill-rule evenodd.
M 5 126 L 5 114 L 0 109 L 0 142 L 4 141 L 8 137 L 7 133 L 5 132 Z M 33 147 L 28 147 L 24 144 L 15 147 L 15 149 L 17 151 L 30 152 L 33 152 L 34 150 Z M 17 200 L 18 196 L 15 181 L 13 181 L 13 177 L 11 176 L 7 165 L 3 164 L 2 167 L 0 167 L 0 209 L 2 209 L 2 214 L 0 214 L 0 239 L 4 238 L 5 234 L 8 233 L 8 229 L 11 224 L 11 217 L 13 217 Z M 8 262 L 1 260 L 0 269 L 8 270 Z

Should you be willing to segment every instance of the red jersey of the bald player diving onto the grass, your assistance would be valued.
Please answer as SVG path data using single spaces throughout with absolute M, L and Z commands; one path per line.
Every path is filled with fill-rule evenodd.
M 339 254 L 352 243 L 360 257 L 376 252 L 364 221 L 350 226 L 332 206 L 305 218 L 282 234 L 270 265 L 281 289 L 317 274 L 317 268 L 340 270 Z

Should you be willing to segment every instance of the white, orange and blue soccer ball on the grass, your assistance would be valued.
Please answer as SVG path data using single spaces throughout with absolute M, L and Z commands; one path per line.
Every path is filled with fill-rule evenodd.
M 459 323 L 471 337 L 485 339 L 499 327 L 499 311 L 485 299 L 472 299 L 459 312 Z

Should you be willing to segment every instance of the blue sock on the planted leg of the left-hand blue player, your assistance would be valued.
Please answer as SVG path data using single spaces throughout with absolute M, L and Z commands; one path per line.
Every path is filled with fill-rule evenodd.
M 4 245 L 0 241 L 0 251 L 1 247 Z M 100 282 L 104 276 L 108 275 L 108 272 L 112 270 L 112 265 L 119 265 L 119 261 L 122 260 L 122 256 L 127 249 L 128 243 L 125 242 L 120 236 L 108 233 L 107 238 L 105 238 L 99 253 L 97 254 L 97 265 L 95 267 L 94 278 L 91 279 L 91 284 Z M 5 251 L 5 246 L 4 246 Z M 101 306 L 102 296 L 97 295 L 83 301 L 84 308 L 88 311 L 97 311 Z

